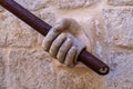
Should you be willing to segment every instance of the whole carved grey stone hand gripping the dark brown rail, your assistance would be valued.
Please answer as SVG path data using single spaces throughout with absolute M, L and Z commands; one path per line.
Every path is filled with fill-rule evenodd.
M 73 19 L 59 21 L 45 36 L 42 47 L 61 63 L 74 67 L 80 52 L 85 48 L 81 26 Z

